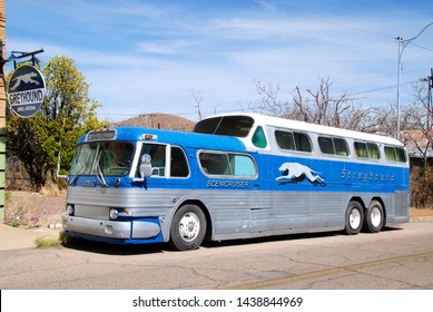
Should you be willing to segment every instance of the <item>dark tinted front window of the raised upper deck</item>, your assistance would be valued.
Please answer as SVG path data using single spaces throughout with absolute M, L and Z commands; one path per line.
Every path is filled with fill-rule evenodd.
M 248 116 L 224 116 L 204 119 L 197 123 L 195 133 L 246 137 L 254 125 Z

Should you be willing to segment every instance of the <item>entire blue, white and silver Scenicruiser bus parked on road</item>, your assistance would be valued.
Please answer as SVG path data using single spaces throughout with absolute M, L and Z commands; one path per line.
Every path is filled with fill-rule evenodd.
M 94 130 L 68 176 L 68 236 L 177 250 L 291 233 L 409 222 L 409 159 L 388 137 L 258 114 L 199 121 L 193 133 Z

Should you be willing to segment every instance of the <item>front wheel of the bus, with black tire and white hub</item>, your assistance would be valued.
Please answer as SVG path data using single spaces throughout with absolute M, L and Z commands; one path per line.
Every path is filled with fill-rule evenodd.
M 206 226 L 206 216 L 198 206 L 181 206 L 173 217 L 170 245 L 178 251 L 197 248 L 205 238 Z

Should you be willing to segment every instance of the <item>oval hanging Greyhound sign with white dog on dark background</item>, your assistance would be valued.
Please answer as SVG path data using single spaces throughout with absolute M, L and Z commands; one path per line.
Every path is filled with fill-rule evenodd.
M 8 101 L 18 116 L 29 118 L 37 114 L 45 96 L 46 82 L 36 67 L 23 65 L 12 74 L 8 86 Z

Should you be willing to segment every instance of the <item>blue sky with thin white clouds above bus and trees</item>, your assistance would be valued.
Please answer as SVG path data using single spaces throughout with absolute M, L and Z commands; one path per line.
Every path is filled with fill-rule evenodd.
M 166 113 L 197 120 L 258 99 L 255 81 L 334 81 L 366 105 L 396 101 L 397 42 L 433 22 L 431 0 L 6 0 L 7 55 L 75 59 L 102 119 Z M 402 103 L 433 67 L 433 26 L 402 55 Z M 12 68 L 8 66 L 8 69 Z

